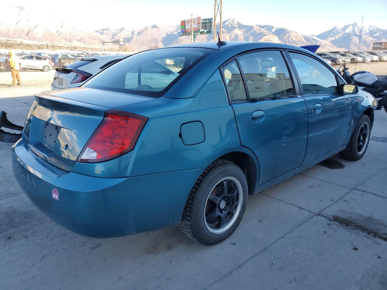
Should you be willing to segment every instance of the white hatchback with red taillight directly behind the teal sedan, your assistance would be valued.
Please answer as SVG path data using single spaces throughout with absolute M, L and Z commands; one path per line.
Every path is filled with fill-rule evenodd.
M 55 68 L 52 90 L 79 87 L 88 78 L 128 55 L 104 55 L 84 58 L 62 68 Z

